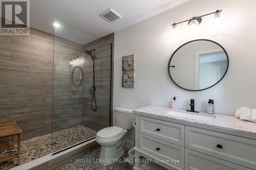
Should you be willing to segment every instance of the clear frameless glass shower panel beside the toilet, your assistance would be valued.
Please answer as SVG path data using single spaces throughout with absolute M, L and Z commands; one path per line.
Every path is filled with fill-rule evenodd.
M 53 154 L 110 126 L 111 53 L 110 42 L 55 20 Z

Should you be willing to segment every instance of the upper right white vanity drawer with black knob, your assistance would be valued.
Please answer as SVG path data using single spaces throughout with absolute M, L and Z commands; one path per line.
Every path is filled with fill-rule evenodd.
M 186 126 L 185 147 L 256 169 L 256 140 Z

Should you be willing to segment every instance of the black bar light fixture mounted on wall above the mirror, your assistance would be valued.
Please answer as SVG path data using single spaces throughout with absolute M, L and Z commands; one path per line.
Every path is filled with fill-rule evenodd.
M 215 12 L 211 12 L 211 13 L 208 13 L 208 14 L 205 14 L 205 15 L 201 15 L 201 16 L 195 16 L 193 18 L 190 18 L 190 19 L 187 19 L 187 20 L 184 20 L 184 21 L 181 21 L 181 22 L 177 22 L 177 23 L 173 23 L 172 27 L 173 27 L 173 30 L 176 30 L 177 29 L 177 25 L 179 23 L 183 23 L 183 22 L 187 22 L 188 21 L 188 25 L 190 27 L 196 27 L 198 25 L 200 25 L 200 23 L 202 22 L 202 17 L 204 16 L 207 16 L 207 15 L 211 15 L 211 14 L 214 14 L 215 15 L 215 19 L 219 19 L 220 18 L 220 14 L 221 14 L 221 11 L 222 10 L 216 10 Z

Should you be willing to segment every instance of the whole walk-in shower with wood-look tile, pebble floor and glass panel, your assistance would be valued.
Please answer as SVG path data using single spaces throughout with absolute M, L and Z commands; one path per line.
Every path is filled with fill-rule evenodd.
M 15 120 L 23 131 L 21 166 L 90 143 L 110 126 L 111 43 L 55 23 L 54 35 L 33 28 L 28 36 L 0 35 L 0 122 Z M 0 144 L 13 139 L 2 137 Z M 14 166 L 15 160 L 0 162 L 1 170 Z

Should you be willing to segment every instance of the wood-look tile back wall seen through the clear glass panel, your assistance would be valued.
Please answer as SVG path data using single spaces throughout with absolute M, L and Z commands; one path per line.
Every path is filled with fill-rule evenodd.
M 81 124 L 83 96 L 81 89 L 74 87 L 71 80 L 75 66 L 70 59 L 85 55 L 83 45 L 55 37 L 54 41 L 54 83 L 53 83 L 53 131 L 59 131 Z

